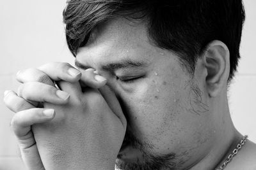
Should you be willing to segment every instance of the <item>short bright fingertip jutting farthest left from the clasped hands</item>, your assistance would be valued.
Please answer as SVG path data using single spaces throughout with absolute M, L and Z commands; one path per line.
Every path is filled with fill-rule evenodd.
M 12 90 L 6 90 L 6 92 L 4 92 L 4 104 L 15 113 L 35 108 L 31 103 L 28 103 L 28 101 L 22 97 L 17 96 Z

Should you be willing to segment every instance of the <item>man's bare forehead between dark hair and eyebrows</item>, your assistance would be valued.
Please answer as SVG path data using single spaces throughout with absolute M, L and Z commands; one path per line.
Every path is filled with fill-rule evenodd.
M 122 59 L 145 59 L 152 53 L 147 27 L 143 23 L 115 18 L 99 25 L 86 46 L 79 48 L 77 60 L 82 63 L 111 62 Z M 148 56 L 148 57 L 147 57 Z

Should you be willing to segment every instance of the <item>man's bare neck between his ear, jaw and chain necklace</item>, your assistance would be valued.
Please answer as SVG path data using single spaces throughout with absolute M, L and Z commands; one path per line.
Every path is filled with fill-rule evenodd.
M 191 167 L 196 169 L 215 169 L 221 166 L 230 153 L 236 148 L 237 143 L 243 136 L 237 132 L 232 123 L 227 97 L 215 99 L 213 106 L 222 106 L 213 108 L 211 114 L 218 115 L 216 119 L 216 136 L 210 152 L 200 162 Z M 220 114 L 221 113 L 221 114 Z

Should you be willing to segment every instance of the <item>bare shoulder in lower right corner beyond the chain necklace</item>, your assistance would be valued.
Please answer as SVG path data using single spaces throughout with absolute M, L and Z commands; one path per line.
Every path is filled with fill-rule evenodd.
M 228 164 L 227 170 L 256 170 L 256 143 L 248 140 Z

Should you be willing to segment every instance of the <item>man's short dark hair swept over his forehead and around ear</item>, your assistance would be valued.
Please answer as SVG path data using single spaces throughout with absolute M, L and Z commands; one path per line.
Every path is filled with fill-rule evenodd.
M 97 25 L 115 17 L 146 18 L 148 38 L 172 50 L 189 73 L 207 44 L 218 39 L 230 51 L 230 74 L 240 58 L 242 0 L 70 0 L 63 11 L 68 48 L 76 56 Z

